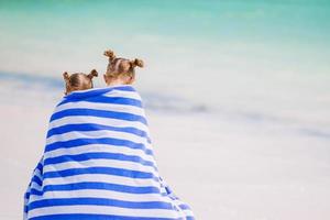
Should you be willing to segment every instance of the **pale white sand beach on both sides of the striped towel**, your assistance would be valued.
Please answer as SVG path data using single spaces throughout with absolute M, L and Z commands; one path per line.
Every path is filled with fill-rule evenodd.
M 1 220 L 21 219 L 43 151 L 54 103 L 35 102 L 1 105 Z M 329 139 L 212 113 L 147 117 L 160 172 L 197 219 L 330 218 Z

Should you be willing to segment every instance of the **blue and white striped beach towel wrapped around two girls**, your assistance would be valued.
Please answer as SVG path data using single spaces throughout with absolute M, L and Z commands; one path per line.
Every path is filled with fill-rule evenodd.
M 194 219 L 157 172 L 141 97 L 132 86 L 64 97 L 24 196 L 24 219 Z

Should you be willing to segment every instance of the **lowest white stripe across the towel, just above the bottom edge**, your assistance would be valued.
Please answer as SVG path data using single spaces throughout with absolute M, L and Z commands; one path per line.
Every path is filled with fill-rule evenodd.
M 157 217 L 157 218 L 177 218 L 178 213 L 173 210 L 164 209 L 128 209 L 110 206 L 56 206 L 33 209 L 29 212 L 29 218 L 56 215 L 56 213 L 96 213 L 114 215 L 127 217 Z

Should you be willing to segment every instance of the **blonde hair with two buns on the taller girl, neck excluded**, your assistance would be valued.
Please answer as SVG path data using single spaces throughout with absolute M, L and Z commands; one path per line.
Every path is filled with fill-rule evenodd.
M 103 53 L 105 56 L 109 57 L 109 64 L 107 67 L 107 77 L 117 78 L 119 76 L 135 76 L 135 67 L 143 67 L 143 61 L 135 58 L 135 59 L 127 59 L 122 57 L 116 57 L 113 51 L 108 50 Z

